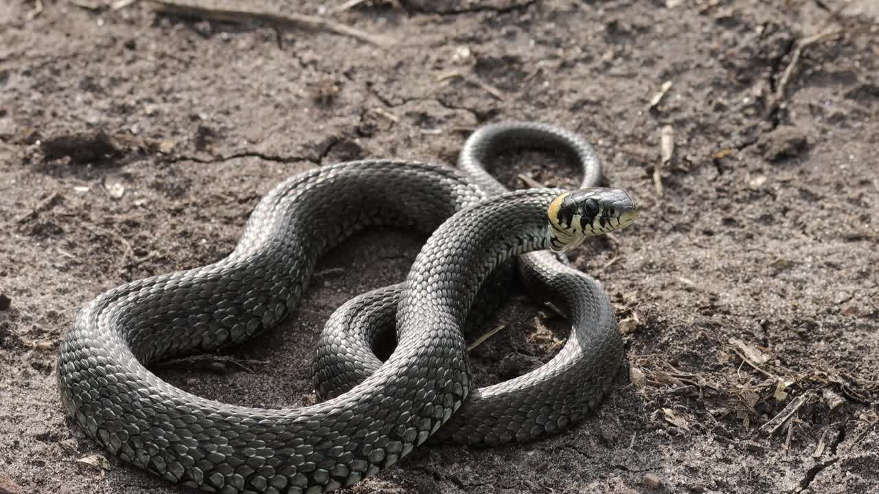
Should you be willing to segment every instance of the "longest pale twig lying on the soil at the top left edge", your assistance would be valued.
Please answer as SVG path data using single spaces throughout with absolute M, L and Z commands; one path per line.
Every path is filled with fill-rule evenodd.
M 330 33 L 341 34 L 378 47 L 389 47 L 391 44 L 389 40 L 385 40 L 380 36 L 360 31 L 360 29 L 355 29 L 350 25 L 316 16 L 280 14 L 245 9 L 219 9 L 169 0 L 150 0 L 150 2 L 153 3 L 153 10 L 167 14 L 203 18 L 217 22 L 231 22 L 235 24 L 248 21 L 265 22 L 266 24 L 277 25 L 280 27 L 294 27 L 298 29 L 327 31 Z

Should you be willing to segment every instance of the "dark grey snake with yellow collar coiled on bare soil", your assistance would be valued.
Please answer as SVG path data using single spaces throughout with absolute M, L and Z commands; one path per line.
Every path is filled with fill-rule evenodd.
M 574 149 L 589 183 L 505 192 L 469 173 L 468 163 L 522 147 Z M 372 159 L 303 171 L 258 201 L 227 257 L 99 294 L 58 352 L 67 415 L 121 461 L 224 494 L 359 483 L 464 412 L 465 442 L 527 440 L 575 423 L 607 392 L 621 338 L 599 282 L 534 251 L 569 251 L 628 226 L 636 207 L 621 190 L 592 186 L 601 175 L 594 151 L 557 127 L 490 124 L 461 155 L 463 169 Z M 318 259 L 373 226 L 429 237 L 399 293 L 394 352 L 347 391 L 309 406 L 251 408 L 195 396 L 149 371 L 276 326 L 294 313 Z M 491 272 L 526 252 L 540 257 L 521 271 L 563 296 L 574 329 L 547 365 L 501 389 L 473 389 L 461 327 Z M 467 440 L 476 436 L 483 440 Z

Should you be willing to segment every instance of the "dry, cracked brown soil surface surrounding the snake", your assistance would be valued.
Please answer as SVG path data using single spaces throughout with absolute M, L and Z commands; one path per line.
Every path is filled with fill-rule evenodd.
M 389 49 L 108 4 L 0 5 L 0 491 L 185 491 L 102 464 L 64 418 L 54 354 L 76 310 L 222 258 L 258 198 L 298 171 L 454 163 L 471 129 L 526 119 L 584 134 L 640 205 L 635 226 L 574 256 L 612 295 L 625 367 L 570 432 L 420 447 L 348 491 L 879 492 L 870 0 L 841 15 L 837 0 L 253 7 L 331 18 Z M 512 186 L 517 173 L 573 182 L 553 156 L 499 162 Z M 314 403 L 319 328 L 352 295 L 403 280 L 422 241 L 359 236 L 278 331 L 156 372 L 228 403 Z M 566 336 L 520 290 L 480 331 L 501 323 L 472 352 L 479 383 L 526 372 Z

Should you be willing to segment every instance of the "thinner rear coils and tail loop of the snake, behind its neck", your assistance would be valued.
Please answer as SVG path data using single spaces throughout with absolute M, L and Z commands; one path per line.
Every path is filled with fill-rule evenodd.
M 588 142 L 566 130 L 532 122 L 477 129 L 461 149 L 459 167 L 487 194 L 507 193 L 486 170 L 486 163 L 502 152 L 524 148 L 571 155 L 583 173 L 582 188 L 603 180 L 598 156 Z M 494 446 L 561 432 L 595 410 L 614 380 L 622 341 L 603 287 L 550 251 L 530 252 L 518 260 L 527 287 L 568 309 L 570 338 L 553 360 L 534 372 L 475 389 L 432 442 Z M 400 283 L 360 294 L 331 316 L 316 346 L 313 370 L 319 396 L 339 396 L 381 367 L 373 348 L 380 330 L 394 322 L 403 289 Z

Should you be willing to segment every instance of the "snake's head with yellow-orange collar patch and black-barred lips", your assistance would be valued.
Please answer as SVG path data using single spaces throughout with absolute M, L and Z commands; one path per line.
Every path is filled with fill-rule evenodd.
M 627 227 L 638 217 L 635 202 L 620 189 L 591 187 L 556 197 L 547 211 L 549 248 L 567 252 L 587 236 Z

